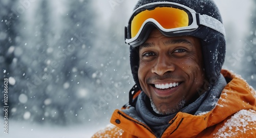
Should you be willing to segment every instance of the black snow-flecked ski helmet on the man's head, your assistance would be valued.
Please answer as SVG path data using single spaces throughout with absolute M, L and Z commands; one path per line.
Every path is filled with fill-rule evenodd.
M 213 84 L 217 80 L 218 76 L 220 75 L 221 68 L 224 63 L 225 51 L 226 51 L 225 30 L 222 25 L 222 19 L 221 19 L 219 9 L 217 8 L 216 4 L 212 0 L 200 0 L 200 1 L 140 0 L 135 6 L 135 11 L 143 11 L 145 10 L 143 6 L 150 5 L 151 7 L 154 7 L 154 5 L 158 5 L 159 3 L 160 4 L 170 3 L 170 4 L 177 4 L 177 5 L 188 7 L 196 12 L 197 17 L 201 15 L 207 16 L 210 18 L 213 17 L 212 19 L 217 20 L 217 22 L 219 22 L 219 25 L 216 25 L 214 22 L 212 22 L 210 18 L 207 18 L 206 20 L 208 22 L 206 24 L 198 24 L 198 28 L 194 30 L 181 32 L 177 34 L 175 33 L 170 34 L 170 33 L 165 33 L 164 31 L 161 31 L 156 25 L 154 25 L 154 22 L 149 22 L 148 28 L 144 29 L 144 32 L 142 29 L 140 33 L 140 35 L 142 35 L 142 39 L 138 40 L 140 42 L 138 42 L 137 45 L 136 44 L 133 45 L 133 43 L 128 42 L 131 45 L 130 62 L 131 62 L 131 69 L 132 69 L 132 74 L 133 74 L 135 83 L 141 89 L 139 84 L 139 79 L 138 79 L 139 54 L 138 54 L 137 46 L 142 44 L 147 39 L 148 35 L 153 30 L 152 27 L 155 27 L 155 28 L 158 28 L 159 31 L 161 31 L 165 36 L 168 36 L 168 37 L 189 35 L 189 36 L 194 36 L 199 38 L 202 46 L 202 55 L 204 60 L 204 70 L 205 70 L 206 78 L 210 84 Z M 129 22 L 129 26 L 130 26 L 130 22 Z M 128 29 L 125 28 L 126 39 L 131 38 L 131 34 L 129 32 L 129 26 L 127 26 Z M 217 31 L 218 29 L 220 31 Z

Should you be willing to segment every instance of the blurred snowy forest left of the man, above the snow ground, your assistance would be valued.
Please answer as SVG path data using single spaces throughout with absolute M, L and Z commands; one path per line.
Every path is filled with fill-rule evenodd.
M 11 119 L 87 123 L 126 103 L 120 95 L 133 80 L 123 26 L 116 17 L 112 24 L 97 22 L 94 5 L 1 1 L 0 79 L 9 78 Z

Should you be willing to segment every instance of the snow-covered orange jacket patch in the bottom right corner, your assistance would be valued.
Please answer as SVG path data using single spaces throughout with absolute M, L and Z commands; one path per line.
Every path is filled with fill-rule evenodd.
M 248 131 L 255 131 L 256 126 L 256 111 L 240 110 L 235 113 L 214 135 L 216 137 L 233 137 L 238 134 L 246 134 Z

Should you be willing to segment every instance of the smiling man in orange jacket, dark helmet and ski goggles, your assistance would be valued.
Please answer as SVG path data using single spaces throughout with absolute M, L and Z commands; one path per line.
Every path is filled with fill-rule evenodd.
M 211 0 L 139 1 L 125 31 L 136 85 L 93 137 L 256 137 L 256 93 L 221 69 L 224 36 Z

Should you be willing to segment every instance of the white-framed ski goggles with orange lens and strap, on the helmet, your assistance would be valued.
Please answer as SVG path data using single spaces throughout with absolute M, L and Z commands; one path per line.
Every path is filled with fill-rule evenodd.
M 166 36 L 193 32 L 199 25 L 214 29 L 225 35 L 225 29 L 218 19 L 196 13 L 184 5 L 172 2 L 156 2 L 134 10 L 129 25 L 125 27 L 125 43 L 132 47 L 145 42 L 152 25 Z

